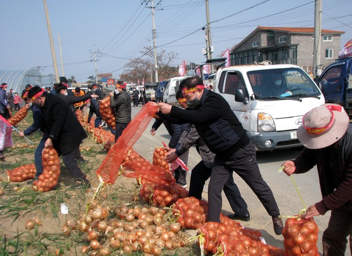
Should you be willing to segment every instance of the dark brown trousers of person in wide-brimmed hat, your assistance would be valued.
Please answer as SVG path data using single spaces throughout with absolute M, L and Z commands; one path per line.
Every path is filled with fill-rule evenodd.
M 352 213 L 343 207 L 331 210 L 328 228 L 323 233 L 323 255 L 344 256 L 348 236 L 352 255 Z

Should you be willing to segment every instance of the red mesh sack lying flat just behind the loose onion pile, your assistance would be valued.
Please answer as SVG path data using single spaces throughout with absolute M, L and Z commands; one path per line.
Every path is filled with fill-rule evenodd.
M 157 185 L 173 186 L 176 183 L 175 178 L 170 171 L 157 167 L 148 161 L 130 161 L 121 164 L 122 174 L 125 177 L 136 178 L 140 184 L 145 182 L 155 183 Z

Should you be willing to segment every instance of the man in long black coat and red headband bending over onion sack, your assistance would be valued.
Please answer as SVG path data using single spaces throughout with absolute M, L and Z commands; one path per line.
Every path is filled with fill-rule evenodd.
M 72 178 L 79 182 L 79 185 L 89 187 L 89 181 L 76 160 L 79 145 L 87 138 L 87 133 L 77 117 L 63 99 L 43 92 L 40 87 L 30 89 L 28 98 L 42 111 L 42 131 L 48 135 L 44 146 L 53 146 L 58 154 L 63 156 L 63 161 Z

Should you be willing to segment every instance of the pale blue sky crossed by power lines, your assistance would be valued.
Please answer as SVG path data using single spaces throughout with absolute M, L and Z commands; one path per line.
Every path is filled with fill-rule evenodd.
M 345 31 L 343 47 L 352 39 L 352 1 L 322 3 L 322 29 Z M 95 75 L 95 65 L 98 73 L 118 79 L 130 58 L 153 46 L 151 0 L 46 4 L 60 76 L 60 48 L 65 76 L 85 83 Z M 154 7 L 157 51 L 177 53 L 172 66 L 183 60 L 205 62 L 205 0 L 154 0 Z M 0 0 L 0 9 L 0 70 L 37 68 L 42 74 L 54 73 L 43 0 Z M 314 0 L 209 0 L 209 13 L 213 58 L 258 26 L 314 27 Z

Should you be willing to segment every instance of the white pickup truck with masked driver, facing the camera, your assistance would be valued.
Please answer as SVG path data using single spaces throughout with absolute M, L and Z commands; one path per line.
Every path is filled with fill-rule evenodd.
M 216 93 L 229 103 L 257 151 L 301 146 L 302 116 L 325 103 L 309 75 L 295 65 L 220 68 Z

